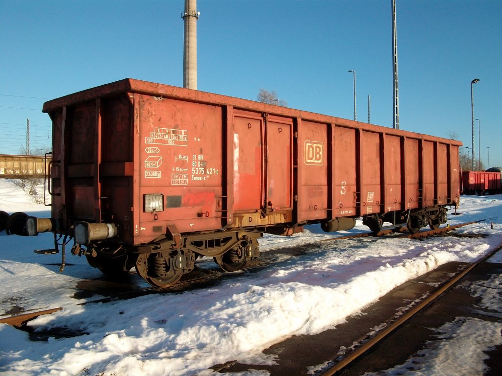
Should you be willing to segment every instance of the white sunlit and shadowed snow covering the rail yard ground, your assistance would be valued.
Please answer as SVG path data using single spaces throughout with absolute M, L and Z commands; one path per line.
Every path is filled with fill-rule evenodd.
M 228 360 L 270 364 L 274 357 L 262 350 L 271 344 L 294 334 L 334 328 L 403 282 L 450 261 L 474 261 L 498 246 L 501 209 L 502 196 L 462 197 L 462 214 L 449 216 L 450 225 L 486 219 L 459 230 L 489 235 L 483 238 L 324 242 L 302 257 L 285 258 L 255 273 L 236 273 L 235 278 L 211 287 L 85 306 L 79 305 L 84 300 L 74 298 L 76 285 L 100 276 L 97 269 L 85 258 L 67 256 L 73 265 L 60 274 L 59 266 L 53 265 L 61 262 L 59 254 L 32 252 L 53 248 L 50 234 L 31 238 L 7 236 L 4 231 L 0 233 L 0 316 L 19 308 L 63 307 L 30 325 L 44 332 L 68 327 L 89 334 L 31 341 L 28 333 L 0 324 L 0 374 L 207 376 L 218 374 L 210 366 Z M 0 179 L 0 210 L 49 216 L 47 207 L 35 204 L 6 179 Z M 352 231 L 361 230 L 366 228 L 358 223 Z M 332 234 L 323 233 L 319 226 L 310 226 L 291 238 L 265 236 L 260 244 L 265 253 L 329 237 Z M 499 254 L 491 261 L 502 262 Z M 500 292 L 500 276 L 490 283 Z M 500 296 L 472 294 L 483 294 L 486 307 L 502 312 Z M 420 354 L 419 364 L 413 364 L 418 373 L 413 374 L 437 374 L 439 365 L 443 374 L 482 374 L 479 359 L 486 356 L 482 351 L 502 343 L 501 329 L 500 322 L 462 318 L 437 328 L 438 340 Z M 463 359 L 475 353 L 478 361 L 456 362 L 455 355 L 444 361 L 445 355 L 458 353 L 465 355 Z M 397 365 L 389 374 L 405 374 L 408 366 Z

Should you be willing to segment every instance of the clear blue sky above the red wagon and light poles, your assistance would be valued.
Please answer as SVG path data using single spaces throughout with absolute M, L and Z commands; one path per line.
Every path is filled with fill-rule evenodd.
M 198 0 L 198 89 L 393 123 L 391 0 Z M 397 0 L 400 128 L 502 164 L 502 2 Z M 130 77 L 182 86 L 183 0 L 0 0 L 0 153 L 50 143 L 48 99 Z M 475 121 L 476 149 L 478 121 Z M 476 157 L 478 150 L 476 150 Z

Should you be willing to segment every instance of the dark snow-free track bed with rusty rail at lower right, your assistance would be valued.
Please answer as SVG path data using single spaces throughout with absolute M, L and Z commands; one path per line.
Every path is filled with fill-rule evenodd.
M 360 314 L 347 317 L 336 328 L 314 335 L 292 336 L 264 349 L 264 354 L 274 356 L 273 365 L 231 360 L 211 368 L 222 373 L 261 369 L 271 376 L 380 374 L 381 370 L 404 364 L 410 355 L 422 350 L 426 341 L 434 340 L 433 328 L 457 316 L 480 317 L 477 300 L 472 300 L 468 287 L 455 287 L 468 285 L 468 280 L 484 280 L 485 276 L 500 273 L 502 267 L 497 266 L 500 264 L 483 262 L 501 248 L 502 244 L 475 264 L 449 262 L 409 280 Z M 477 283 L 482 285 L 482 282 Z M 484 319 L 489 319 L 488 316 L 490 313 L 486 313 Z M 495 370 L 490 374 L 498 374 L 500 353 L 502 350 L 490 355 L 490 366 Z

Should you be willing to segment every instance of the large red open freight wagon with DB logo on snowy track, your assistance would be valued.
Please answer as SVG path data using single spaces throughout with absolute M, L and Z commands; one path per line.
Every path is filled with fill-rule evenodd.
M 132 79 L 43 110 L 52 218 L 30 218 L 29 234 L 73 237 L 92 266 L 136 267 L 156 286 L 197 257 L 241 269 L 264 232 L 347 230 L 360 216 L 417 232 L 459 203 L 454 140 Z

